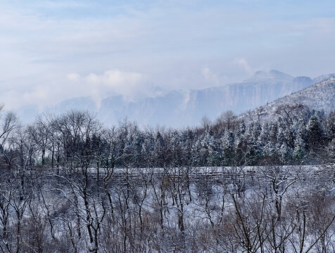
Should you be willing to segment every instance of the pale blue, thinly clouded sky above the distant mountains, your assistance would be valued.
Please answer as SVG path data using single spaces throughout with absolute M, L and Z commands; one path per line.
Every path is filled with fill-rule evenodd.
M 258 70 L 335 72 L 335 2 L 0 0 L 0 103 L 9 110 L 156 87 L 204 89 Z M 42 110 L 42 109 L 41 109 Z

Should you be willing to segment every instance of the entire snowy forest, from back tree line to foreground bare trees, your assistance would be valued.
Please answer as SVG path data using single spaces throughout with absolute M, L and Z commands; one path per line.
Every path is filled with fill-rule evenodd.
M 170 129 L 1 112 L 1 252 L 335 252 L 335 111 Z

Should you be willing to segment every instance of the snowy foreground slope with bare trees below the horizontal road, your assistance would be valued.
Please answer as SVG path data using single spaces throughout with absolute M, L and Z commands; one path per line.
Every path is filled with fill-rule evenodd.
M 334 165 L 195 169 L 1 169 L 1 251 L 334 252 Z

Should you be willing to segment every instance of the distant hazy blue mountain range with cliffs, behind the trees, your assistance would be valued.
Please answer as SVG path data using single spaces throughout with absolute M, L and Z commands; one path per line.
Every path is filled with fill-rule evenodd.
M 127 101 L 122 95 L 111 94 L 101 100 L 98 108 L 89 97 L 64 100 L 44 112 L 63 113 L 67 110 L 89 110 L 95 112 L 101 122 L 117 124 L 127 117 L 139 124 L 187 126 L 195 125 L 206 115 L 215 119 L 225 110 L 236 114 L 257 108 L 296 91 L 308 88 L 335 74 L 324 74 L 315 79 L 310 77 L 291 77 L 289 74 L 271 70 L 258 71 L 243 82 L 215 86 L 208 89 L 180 89 L 162 91 L 157 88 L 156 96 Z M 35 107 L 20 108 L 17 111 L 24 122 L 30 122 L 38 112 Z

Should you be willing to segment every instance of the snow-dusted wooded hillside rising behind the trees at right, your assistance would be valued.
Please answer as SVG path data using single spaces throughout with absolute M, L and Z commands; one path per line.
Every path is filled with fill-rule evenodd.
M 256 116 L 261 113 L 262 117 L 267 118 L 270 115 L 273 115 L 274 111 L 280 105 L 297 104 L 307 105 L 310 109 L 324 111 L 325 113 L 335 110 L 335 77 L 324 79 L 324 81 L 313 84 L 301 91 L 274 100 L 272 103 L 267 103 L 267 105 L 263 105 L 260 108 L 256 108 L 255 110 L 251 110 L 246 114 L 241 115 L 241 117 L 256 118 Z

